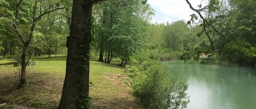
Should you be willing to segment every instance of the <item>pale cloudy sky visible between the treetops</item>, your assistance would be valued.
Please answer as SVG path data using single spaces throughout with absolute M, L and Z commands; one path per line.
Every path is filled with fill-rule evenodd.
M 201 0 L 189 0 L 189 2 L 197 9 Z M 152 23 L 171 23 L 179 20 L 187 22 L 191 18 L 190 15 L 195 13 L 185 0 L 148 0 L 148 3 L 156 11 Z

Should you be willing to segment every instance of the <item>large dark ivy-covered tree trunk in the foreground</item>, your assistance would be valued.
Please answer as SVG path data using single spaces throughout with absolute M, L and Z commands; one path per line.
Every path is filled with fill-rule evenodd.
M 92 5 L 89 1 L 73 1 L 66 77 L 59 109 L 88 108 Z

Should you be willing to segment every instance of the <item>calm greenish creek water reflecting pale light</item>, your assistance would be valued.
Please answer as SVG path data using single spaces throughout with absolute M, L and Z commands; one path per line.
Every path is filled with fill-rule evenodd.
M 165 61 L 187 79 L 187 109 L 256 108 L 256 68 L 221 66 L 218 62 Z

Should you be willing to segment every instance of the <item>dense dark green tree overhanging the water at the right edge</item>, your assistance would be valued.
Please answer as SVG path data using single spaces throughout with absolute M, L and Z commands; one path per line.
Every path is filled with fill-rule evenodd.
M 222 60 L 255 66 L 256 61 L 256 4 L 255 1 L 227 1 L 228 11 L 216 18 L 225 38 L 218 39 L 218 54 Z M 224 19 L 224 20 L 221 20 Z

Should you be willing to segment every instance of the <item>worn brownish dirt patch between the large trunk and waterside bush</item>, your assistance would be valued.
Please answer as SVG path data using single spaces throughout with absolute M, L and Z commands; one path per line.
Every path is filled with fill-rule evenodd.
M 99 80 L 108 86 L 97 85 L 90 89 L 92 108 L 142 108 L 130 94 L 129 78 L 122 74 L 104 74 Z M 96 90 L 104 88 L 106 92 Z M 113 93 L 114 92 L 114 93 Z

